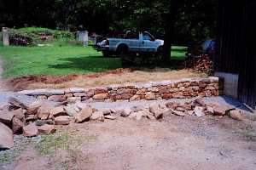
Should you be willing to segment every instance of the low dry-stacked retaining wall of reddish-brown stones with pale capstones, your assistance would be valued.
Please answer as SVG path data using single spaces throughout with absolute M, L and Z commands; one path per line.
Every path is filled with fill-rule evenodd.
M 38 99 L 64 101 L 81 99 L 86 101 L 134 101 L 150 99 L 183 99 L 196 96 L 218 96 L 221 94 L 218 77 L 186 78 L 176 81 L 129 83 L 101 88 L 67 88 L 24 90 L 20 94 Z

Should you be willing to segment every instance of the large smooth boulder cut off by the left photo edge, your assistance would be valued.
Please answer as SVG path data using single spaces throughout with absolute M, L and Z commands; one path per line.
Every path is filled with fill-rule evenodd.
M 0 122 L 0 149 L 10 149 L 14 145 L 13 131 Z

